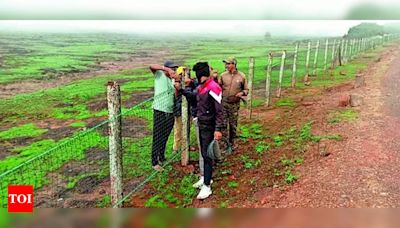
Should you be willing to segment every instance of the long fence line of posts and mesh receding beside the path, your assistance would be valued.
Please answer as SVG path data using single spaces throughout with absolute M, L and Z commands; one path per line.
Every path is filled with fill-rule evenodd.
M 333 71 L 337 66 L 344 65 L 359 54 L 367 52 L 377 46 L 399 39 L 399 34 L 386 35 L 382 37 L 369 37 L 360 39 L 335 39 L 304 43 L 296 43 L 293 51 L 282 50 L 281 52 L 270 52 L 265 68 L 265 105 L 271 105 L 272 97 L 272 72 L 274 67 L 279 66 L 275 96 L 281 97 L 283 79 L 285 73 L 290 75 L 289 87 L 295 88 L 298 80 L 303 83 L 310 82 L 310 76 L 322 76 Z M 278 63 L 274 63 L 277 58 Z M 323 61 L 320 61 L 322 59 Z M 322 62 L 322 64 L 319 64 Z M 289 66 L 289 68 L 287 67 Z M 252 103 L 254 97 L 254 67 L 255 59 L 249 58 L 248 80 L 250 85 L 248 118 L 251 118 Z M 330 70 L 330 72 L 328 72 Z M 289 71 L 289 72 L 288 72 Z M 119 85 L 110 82 L 107 86 L 109 119 L 98 123 L 96 126 L 75 134 L 69 140 L 60 141 L 59 144 L 40 155 L 31 158 L 2 174 L 0 174 L 0 207 L 7 206 L 7 186 L 11 184 L 30 184 L 35 188 L 36 206 L 63 207 L 60 199 L 66 194 L 60 191 L 61 188 L 74 188 L 78 179 L 98 180 L 99 178 L 110 180 L 108 191 L 103 195 L 109 195 L 113 207 L 121 207 L 127 202 L 129 196 L 139 191 L 145 183 L 150 181 L 156 174 L 148 167 L 143 167 L 144 173 L 137 173 L 135 168 L 143 165 L 142 157 L 134 157 L 144 153 L 143 159 L 150 158 L 150 151 L 153 143 L 149 133 L 135 137 L 130 141 L 123 140 L 123 122 L 130 118 L 146 120 L 145 128 L 135 126 L 132 132 L 146 131 L 151 129 L 153 113 L 151 108 L 152 99 L 148 99 L 134 107 L 121 112 L 121 98 Z M 189 116 L 187 114 L 188 103 L 184 99 L 182 105 L 183 137 L 181 149 L 181 164 L 189 162 L 190 129 Z M 185 114 L 186 113 L 186 114 Z M 164 129 L 163 129 L 164 130 Z M 108 137 L 102 137 L 100 132 L 108 132 Z M 164 164 L 178 158 L 178 153 Z M 137 159 L 137 160 L 132 160 Z M 145 163 L 147 165 L 147 163 Z M 63 177 L 58 172 L 65 174 Z M 130 176 L 131 175 L 131 176 Z M 138 183 L 127 187 L 129 178 L 137 177 Z M 97 178 L 97 179 L 96 179 Z M 125 178 L 125 179 L 124 179 Z M 143 179 L 144 178 L 144 179 Z M 86 189 L 87 190 L 87 189 Z M 87 190 L 91 191 L 91 189 Z M 82 190 L 82 192 L 85 192 Z M 63 199 L 64 200 L 64 199 Z M 45 202 L 45 201 L 50 201 Z

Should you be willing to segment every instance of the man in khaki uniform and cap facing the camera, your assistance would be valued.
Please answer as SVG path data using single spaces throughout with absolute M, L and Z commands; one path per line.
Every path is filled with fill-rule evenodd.
M 222 105 L 227 126 L 227 132 L 224 133 L 225 136 L 228 136 L 232 149 L 235 149 L 234 140 L 236 138 L 240 100 L 243 96 L 247 96 L 249 89 L 245 74 L 237 70 L 236 58 L 229 57 L 223 62 L 226 71 L 221 74 L 218 83 L 222 88 Z

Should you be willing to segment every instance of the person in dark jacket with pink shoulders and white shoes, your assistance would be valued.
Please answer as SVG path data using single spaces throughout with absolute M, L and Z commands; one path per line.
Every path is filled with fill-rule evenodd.
M 200 133 L 200 149 L 204 159 L 204 184 L 197 199 L 205 199 L 212 194 L 211 177 L 213 160 L 207 154 L 208 145 L 215 139 L 220 140 L 224 127 L 222 112 L 222 89 L 212 77 L 207 62 L 198 62 L 193 66 L 199 82 L 197 91 L 197 118 Z

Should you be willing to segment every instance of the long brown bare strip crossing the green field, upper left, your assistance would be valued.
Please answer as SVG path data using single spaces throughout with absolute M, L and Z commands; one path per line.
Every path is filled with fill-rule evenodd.
M 21 93 L 32 93 L 38 90 L 63 86 L 76 80 L 112 74 L 124 69 L 145 67 L 152 63 L 162 63 L 169 55 L 168 50 L 146 50 L 140 51 L 140 53 L 140 55 L 129 57 L 126 61 L 101 62 L 88 72 L 70 73 L 50 80 L 31 79 L 0 85 L 0 99 Z

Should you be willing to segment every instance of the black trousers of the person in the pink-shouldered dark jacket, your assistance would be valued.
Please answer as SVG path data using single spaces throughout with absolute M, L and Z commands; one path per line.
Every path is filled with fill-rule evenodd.
M 200 149 L 204 159 L 204 184 L 207 186 L 210 186 L 213 171 L 213 160 L 207 156 L 207 149 L 214 139 L 214 132 L 215 124 L 199 122 Z

